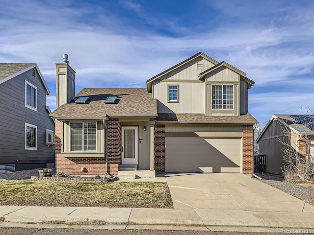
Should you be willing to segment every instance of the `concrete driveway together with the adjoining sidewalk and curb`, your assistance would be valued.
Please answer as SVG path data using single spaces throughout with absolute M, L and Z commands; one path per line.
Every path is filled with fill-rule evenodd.
M 314 233 L 312 206 L 246 175 L 226 176 L 167 176 L 174 209 L 0 206 L 0 227 Z

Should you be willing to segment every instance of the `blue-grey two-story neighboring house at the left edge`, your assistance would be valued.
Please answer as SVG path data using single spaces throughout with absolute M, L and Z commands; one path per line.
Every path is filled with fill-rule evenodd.
M 54 166 L 54 119 L 36 64 L 0 63 L 0 172 Z

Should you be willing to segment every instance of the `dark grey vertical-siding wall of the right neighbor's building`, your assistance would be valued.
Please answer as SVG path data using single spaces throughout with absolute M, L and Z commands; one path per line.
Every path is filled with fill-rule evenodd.
M 277 120 L 272 121 L 264 131 L 260 143 L 260 155 L 266 154 L 267 173 L 282 174 L 284 166 L 282 150 L 285 147 L 279 140 L 289 142 L 289 138 L 283 134 L 283 125 Z

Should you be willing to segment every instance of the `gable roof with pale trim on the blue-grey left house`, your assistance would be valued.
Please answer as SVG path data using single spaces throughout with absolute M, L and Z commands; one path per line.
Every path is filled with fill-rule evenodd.
M 36 68 L 40 79 L 42 80 L 47 94 L 50 94 L 50 90 L 45 82 L 43 75 L 41 74 L 37 64 L 26 64 L 26 63 L 0 63 L 0 84 L 16 77 L 28 70 Z

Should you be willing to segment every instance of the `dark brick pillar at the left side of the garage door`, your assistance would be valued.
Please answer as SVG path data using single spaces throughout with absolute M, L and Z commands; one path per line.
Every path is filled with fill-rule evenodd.
M 154 168 L 156 174 L 165 173 L 165 125 L 155 125 Z

